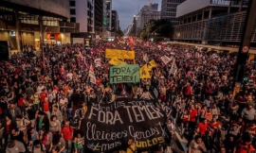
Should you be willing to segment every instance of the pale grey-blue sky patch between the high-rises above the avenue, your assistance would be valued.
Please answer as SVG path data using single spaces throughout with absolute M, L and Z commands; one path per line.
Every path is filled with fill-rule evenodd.
M 161 9 L 161 0 L 152 0 L 152 3 L 158 4 L 158 10 Z M 112 10 L 117 10 L 119 13 L 119 23 L 121 30 L 129 26 L 134 19 L 134 15 L 145 6 L 149 5 L 149 0 L 112 0 Z

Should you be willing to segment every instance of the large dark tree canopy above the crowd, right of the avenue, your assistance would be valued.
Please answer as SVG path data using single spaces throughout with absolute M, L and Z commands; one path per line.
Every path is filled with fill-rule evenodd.
M 139 36 L 143 39 L 150 39 L 155 37 L 169 37 L 172 33 L 173 25 L 170 20 L 160 19 L 151 20 L 144 29 L 139 33 Z

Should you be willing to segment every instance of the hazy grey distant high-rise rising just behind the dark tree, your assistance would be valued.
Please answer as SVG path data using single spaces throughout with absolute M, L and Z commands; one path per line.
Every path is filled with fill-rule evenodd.
M 151 7 L 151 8 L 150 8 Z M 151 6 L 144 6 L 137 14 L 137 29 L 141 30 L 149 23 L 150 20 L 159 20 L 161 18 L 161 12 L 158 11 L 158 4 L 152 4 Z

